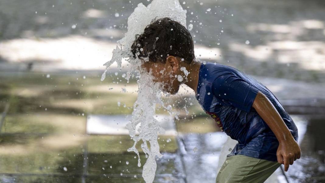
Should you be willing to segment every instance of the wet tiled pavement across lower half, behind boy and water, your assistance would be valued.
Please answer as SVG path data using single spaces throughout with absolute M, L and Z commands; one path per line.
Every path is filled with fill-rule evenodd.
M 1 84 L 0 90 L 0 110 L 4 111 L 0 117 L 0 182 L 143 182 L 136 154 L 127 152 L 133 140 L 125 132 L 121 133 L 122 123 L 106 133 L 96 133 L 101 128 L 98 122 L 107 126 L 110 125 L 107 119 L 131 114 L 136 98 L 132 88 L 123 92 L 123 82 L 112 85 L 114 77 L 100 82 L 94 73 L 51 74 L 50 77 L 44 73 L 6 73 L 0 72 L 0 79 L 7 81 Z M 264 82 L 285 103 L 286 109 L 295 107 L 289 108 L 289 112 L 307 111 L 292 115 L 300 132 L 302 158 L 287 173 L 278 170 L 274 180 L 278 183 L 287 183 L 286 178 L 290 183 L 324 182 L 325 118 L 319 112 L 306 110 L 321 107 L 322 103 L 299 103 L 297 101 L 304 100 L 287 98 L 289 93 L 283 92 L 274 80 Z M 293 91 L 296 86 L 291 84 L 289 88 Z M 316 87 L 315 91 L 318 93 L 320 89 Z M 291 103 L 284 100 L 286 98 Z M 177 103 L 175 109 L 184 111 L 182 96 L 164 100 Z M 158 160 L 156 183 L 213 183 L 219 159 L 224 158 L 220 155 L 228 153 L 222 151 L 226 135 L 204 115 L 195 100 L 190 101 L 193 105 L 188 108 L 189 115 L 180 113 L 181 120 L 175 120 L 175 125 L 166 125 L 172 133 L 159 138 L 163 158 Z M 296 105 L 292 105 L 292 101 Z M 157 112 L 166 115 L 165 111 Z M 87 124 L 92 123 L 87 121 L 94 117 L 97 117 L 93 123 L 95 131 L 87 133 Z M 140 154 L 143 164 L 145 157 Z

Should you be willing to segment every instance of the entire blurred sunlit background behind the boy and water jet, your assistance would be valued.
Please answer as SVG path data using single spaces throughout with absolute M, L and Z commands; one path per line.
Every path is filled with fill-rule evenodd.
M 124 63 L 100 81 L 138 3 L 0 0 L 0 182 L 144 182 L 124 128 L 136 80 Z M 255 77 L 299 128 L 302 158 L 268 181 L 325 182 L 325 1 L 180 3 L 197 59 Z M 164 101 L 180 119 L 162 121 L 155 182 L 215 182 L 226 135 L 186 87 Z

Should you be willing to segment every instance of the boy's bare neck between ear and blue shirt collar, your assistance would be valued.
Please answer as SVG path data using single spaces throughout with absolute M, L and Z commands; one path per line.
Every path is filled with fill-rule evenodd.
M 201 62 L 194 61 L 193 63 L 187 64 L 184 67 L 186 67 L 186 70 L 189 72 L 187 77 L 188 81 L 185 82 L 184 84 L 190 87 L 192 90 L 194 90 L 196 94 L 197 92 L 196 90 L 199 83 L 199 72 L 200 72 Z

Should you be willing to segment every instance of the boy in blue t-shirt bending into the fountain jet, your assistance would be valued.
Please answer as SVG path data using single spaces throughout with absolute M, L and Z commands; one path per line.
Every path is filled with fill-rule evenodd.
M 180 23 L 152 20 L 131 51 L 134 58 L 149 58 L 142 68 L 164 91 L 175 94 L 181 84 L 193 89 L 203 110 L 238 141 L 217 183 L 262 183 L 280 164 L 287 171 L 300 158 L 297 127 L 272 92 L 232 67 L 197 62 L 192 37 Z

